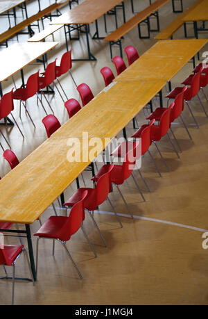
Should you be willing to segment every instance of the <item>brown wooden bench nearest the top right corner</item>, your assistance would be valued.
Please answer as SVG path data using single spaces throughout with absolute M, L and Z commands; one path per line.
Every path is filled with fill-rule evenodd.
M 185 38 L 187 38 L 187 27 L 186 24 L 183 21 L 183 18 L 198 4 L 202 2 L 202 0 L 198 0 L 191 7 L 189 7 L 187 10 L 185 10 L 183 13 L 181 13 L 171 24 L 168 24 L 166 28 L 164 28 L 163 31 L 157 34 L 155 37 L 156 40 L 168 40 L 169 38 L 173 39 L 173 33 L 177 31 L 178 28 L 180 28 L 184 24 L 184 35 Z

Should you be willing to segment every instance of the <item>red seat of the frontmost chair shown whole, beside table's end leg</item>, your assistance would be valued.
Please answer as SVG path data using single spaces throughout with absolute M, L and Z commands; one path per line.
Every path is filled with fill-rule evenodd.
M 58 238 L 60 240 L 66 240 L 65 238 L 65 225 L 68 218 L 65 216 L 51 216 L 46 222 L 38 229 L 34 236 Z M 67 239 L 69 236 L 67 236 Z

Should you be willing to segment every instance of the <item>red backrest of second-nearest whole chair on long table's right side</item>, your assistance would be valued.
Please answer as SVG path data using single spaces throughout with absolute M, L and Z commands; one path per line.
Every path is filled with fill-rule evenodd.
M 96 183 L 96 206 L 102 204 L 111 191 L 110 173 L 113 168 L 113 164 L 109 165 L 108 171 L 103 174 Z

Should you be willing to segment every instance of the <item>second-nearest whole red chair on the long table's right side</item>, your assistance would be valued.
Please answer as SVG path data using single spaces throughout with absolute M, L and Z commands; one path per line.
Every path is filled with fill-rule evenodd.
M 114 206 L 112 205 L 112 202 L 110 201 L 108 194 L 111 191 L 111 173 L 114 168 L 114 165 L 108 165 L 107 169 L 105 170 L 102 177 L 96 179 L 96 187 L 95 188 L 79 188 L 76 193 L 74 193 L 67 201 L 64 203 L 64 206 L 71 207 L 73 206 L 78 200 L 80 200 L 80 197 L 83 195 L 83 193 L 87 190 L 87 197 L 85 199 L 85 209 L 88 211 L 89 216 L 92 218 L 92 221 L 94 222 L 94 225 L 96 229 L 98 229 L 98 232 L 105 243 L 105 246 L 107 247 L 107 243 L 105 241 L 105 238 L 103 237 L 103 234 L 101 233 L 101 230 L 98 227 L 98 224 L 94 220 L 93 211 L 97 209 L 99 205 L 101 205 L 103 202 L 105 202 L 105 199 L 108 200 L 110 205 L 112 206 L 114 213 L 116 215 L 116 211 L 114 209 Z M 93 179 L 94 180 L 94 179 Z M 85 218 L 85 215 L 83 215 L 83 220 Z M 121 221 L 119 220 L 119 217 L 116 215 L 117 220 L 121 224 Z M 123 225 L 121 224 L 121 227 Z

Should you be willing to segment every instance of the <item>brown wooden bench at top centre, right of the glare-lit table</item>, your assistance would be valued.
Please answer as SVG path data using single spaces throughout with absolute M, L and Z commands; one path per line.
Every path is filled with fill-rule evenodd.
M 120 49 L 120 55 L 122 57 L 122 47 L 121 47 L 121 38 L 123 35 L 128 33 L 132 28 L 135 26 L 138 26 L 139 28 L 139 38 L 146 39 L 150 38 L 150 32 L 151 31 L 159 31 L 159 15 L 158 10 L 162 6 L 164 6 L 166 3 L 168 3 L 169 0 L 157 0 L 154 3 L 152 3 L 150 6 L 142 10 L 141 12 L 137 13 L 134 17 L 132 17 L 128 22 L 125 22 L 122 26 L 117 28 L 115 31 L 110 33 L 110 35 L 107 35 L 107 37 L 104 39 L 104 41 L 107 41 L 110 43 L 110 55 L 112 58 L 112 47 L 114 45 L 119 46 Z M 156 17 L 157 19 L 157 29 L 150 28 L 150 17 Z M 141 23 L 145 23 L 148 27 L 148 36 L 141 35 Z

